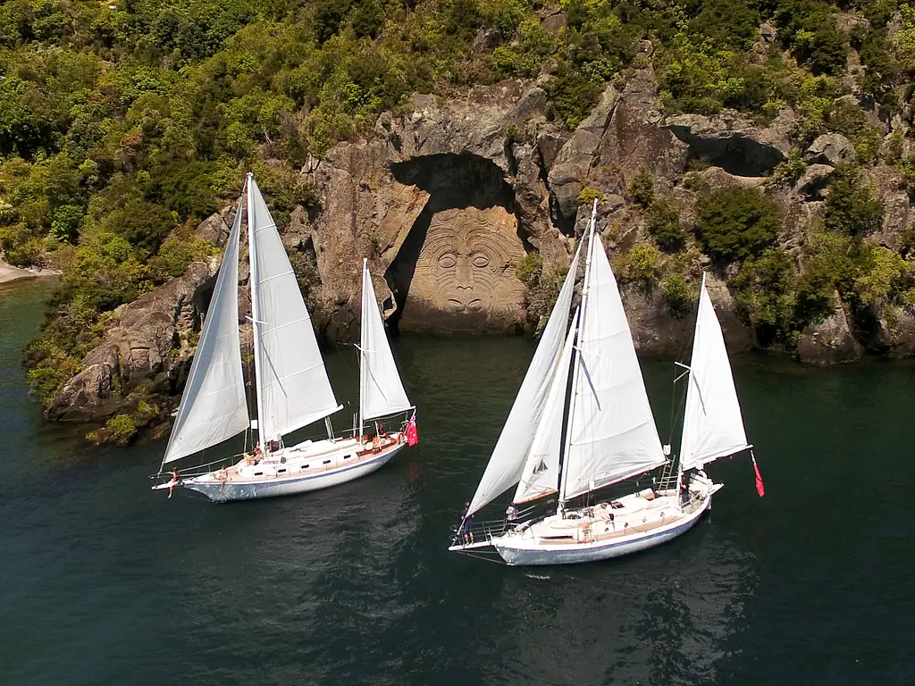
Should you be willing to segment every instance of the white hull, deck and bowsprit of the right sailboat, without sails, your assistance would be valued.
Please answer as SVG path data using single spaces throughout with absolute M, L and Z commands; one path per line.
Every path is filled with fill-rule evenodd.
M 651 494 L 649 499 L 643 491 L 566 512 L 565 518 L 553 515 L 525 523 L 488 542 L 506 563 L 517 566 L 608 560 L 653 548 L 689 531 L 712 507 L 712 496 L 720 488 L 721 484 L 697 477 L 684 506 L 675 492 Z M 608 520 L 609 512 L 613 512 L 613 520 Z M 480 547 L 479 543 L 473 547 Z

